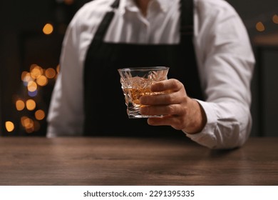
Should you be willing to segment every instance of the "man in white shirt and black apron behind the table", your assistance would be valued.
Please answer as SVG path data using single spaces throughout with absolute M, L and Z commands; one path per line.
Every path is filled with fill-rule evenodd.
M 170 66 L 128 119 L 117 69 Z M 47 136 L 188 136 L 212 149 L 247 140 L 254 56 L 236 11 L 222 0 L 95 0 L 74 16 Z M 148 122 L 148 123 L 147 123 Z M 102 124 L 105 124 L 103 126 Z

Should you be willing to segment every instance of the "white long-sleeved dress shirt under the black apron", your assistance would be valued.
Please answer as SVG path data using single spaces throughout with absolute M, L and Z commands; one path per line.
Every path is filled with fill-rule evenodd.
M 61 73 L 48 112 L 48 137 L 82 133 L 86 51 L 113 1 L 94 0 L 85 4 L 68 26 L 61 52 Z M 194 4 L 194 45 L 205 91 L 205 101 L 197 101 L 205 110 L 207 124 L 200 133 L 184 132 L 193 141 L 211 149 L 242 146 L 252 126 L 249 107 L 254 55 L 247 30 L 226 1 L 195 0 Z M 143 16 L 133 0 L 121 0 L 105 41 L 178 44 L 179 9 L 180 0 L 153 0 L 147 15 Z M 93 76 L 98 75 L 92 74 L 92 79 Z

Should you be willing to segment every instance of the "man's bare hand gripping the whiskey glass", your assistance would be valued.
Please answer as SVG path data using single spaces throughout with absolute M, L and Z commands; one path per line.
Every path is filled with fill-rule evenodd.
M 207 123 L 205 111 L 194 99 L 190 99 L 185 86 L 177 79 L 155 83 L 150 88 L 153 92 L 164 91 L 165 94 L 141 96 L 140 108 L 143 115 L 164 115 L 162 118 L 149 118 L 153 126 L 168 125 L 188 134 L 196 134 Z

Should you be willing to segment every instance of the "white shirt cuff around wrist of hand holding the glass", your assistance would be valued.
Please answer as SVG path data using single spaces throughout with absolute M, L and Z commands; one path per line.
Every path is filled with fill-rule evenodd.
M 202 109 L 204 109 L 207 116 L 207 124 L 205 125 L 204 129 L 202 129 L 202 131 L 197 134 L 187 134 L 186 131 L 182 131 L 188 138 L 192 139 L 192 141 L 195 141 L 202 146 L 207 146 L 208 148 L 213 149 L 217 145 L 217 139 L 214 134 L 217 126 L 217 116 L 214 108 L 215 104 L 200 101 L 197 99 L 195 100 L 198 101 L 198 103 L 202 106 Z

